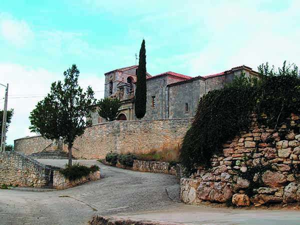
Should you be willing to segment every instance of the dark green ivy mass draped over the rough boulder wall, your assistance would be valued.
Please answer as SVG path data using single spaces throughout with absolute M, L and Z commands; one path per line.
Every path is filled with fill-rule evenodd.
M 281 68 L 258 67 L 260 79 L 244 74 L 222 89 L 203 95 L 191 127 L 180 149 L 180 162 L 191 174 L 198 166 L 210 166 L 213 154 L 221 153 L 222 143 L 250 125 L 255 112 L 260 123 L 276 129 L 293 112 L 300 113 L 298 67 L 283 63 Z

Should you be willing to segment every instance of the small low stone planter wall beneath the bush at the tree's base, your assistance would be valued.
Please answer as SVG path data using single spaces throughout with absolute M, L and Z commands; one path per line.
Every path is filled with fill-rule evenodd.
M 97 179 L 100 179 L 100 171 L 91 172 L 89 175 L 79 179 L 69 180 L 69 178 L 65 177 L 59 170 L 55 170 L 53 172 L 53 187 L 62 190 Z

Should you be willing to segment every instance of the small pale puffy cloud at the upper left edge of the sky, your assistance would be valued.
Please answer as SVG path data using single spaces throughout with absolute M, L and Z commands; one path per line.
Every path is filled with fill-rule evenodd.
M 0 13 L 0 36 L 15 46 L 25 46 L 33 39 L 33 32 L 24 20 Z

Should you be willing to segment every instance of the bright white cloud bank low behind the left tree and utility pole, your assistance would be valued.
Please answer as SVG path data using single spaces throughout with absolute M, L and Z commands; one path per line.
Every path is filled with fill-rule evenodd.
M 7 132 L 7 142 L 12 144 L 13 140 L 27 135 L 34 135 L 29 130 L 30 121 L 28 119 L 30 111 L 39 100 L 50 90 L 53 81 L 62 80 L 61 74 L 46 70 L 40 67 L 26 67 L 19 64 L 0 63 L 1 74 L 5 77 L 2 83 L 9 84 L 8 108 L 14 109 L 14 115 Z M 91 85 L 97 99 L 103 96 L 104 78 L 97 74 L 81 73 L 79 84 L 86 88 Z M 4 88 L 0 88 L 2 96 Z M 0 101 L 1 102 L 1 101 Z M 2 108 L 2 103 L 1 107 Z

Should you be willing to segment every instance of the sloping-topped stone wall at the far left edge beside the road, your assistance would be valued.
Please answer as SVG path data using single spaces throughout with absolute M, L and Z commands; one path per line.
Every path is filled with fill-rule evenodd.
M 0 152 L 0 184 L 43 187 L 50 180 L 51 168 L 19 152 Z

